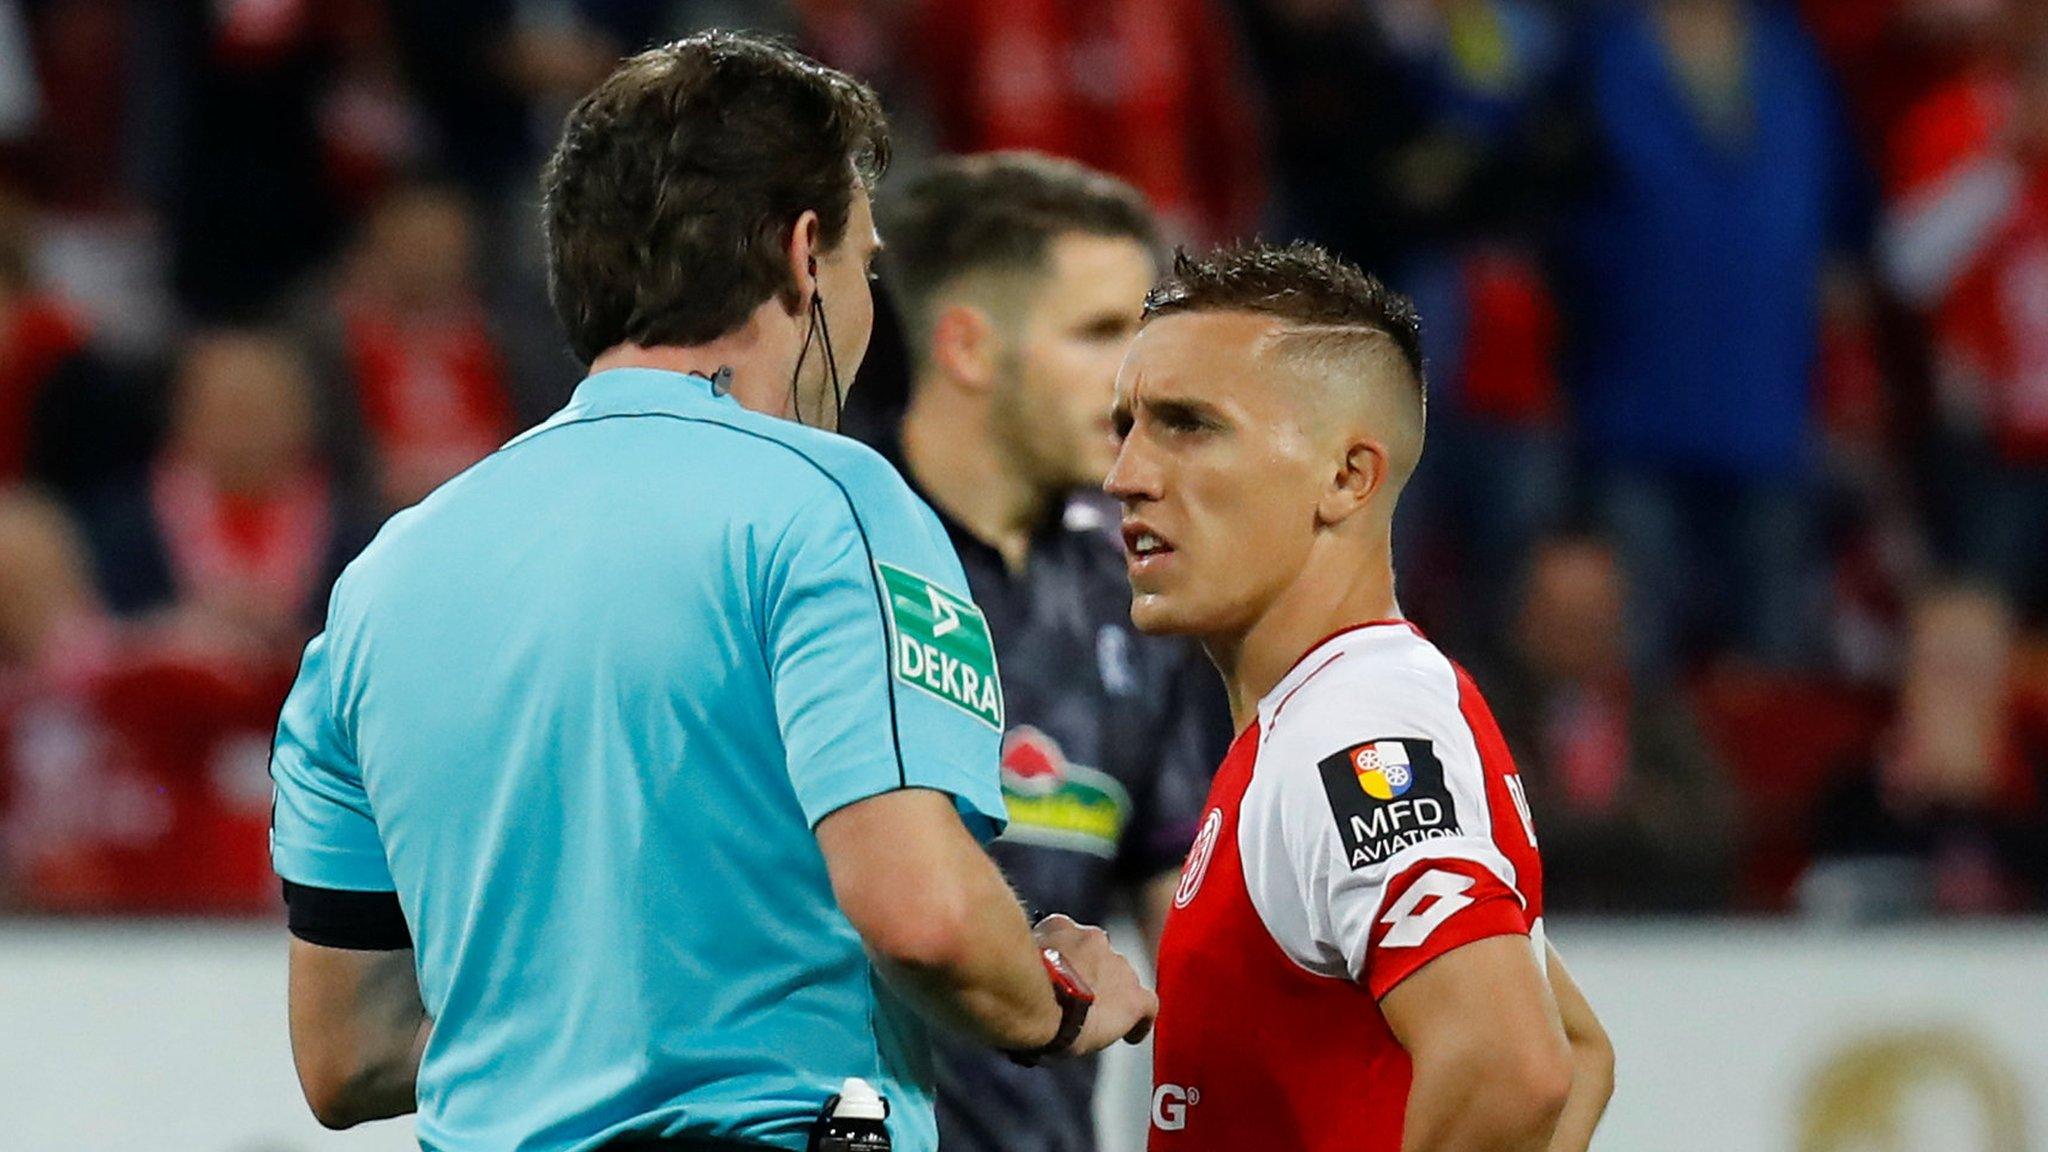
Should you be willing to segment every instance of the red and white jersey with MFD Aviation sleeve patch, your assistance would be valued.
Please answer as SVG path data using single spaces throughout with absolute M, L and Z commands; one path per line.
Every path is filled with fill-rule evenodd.
M 1159 941 L 1151 1152 L 1397 1152 L 1409 1058 L 1378 998 L 1499 935 L 1542 865 L 1493 713 L 1417 629 L 1315 646 L 1217 773 Z

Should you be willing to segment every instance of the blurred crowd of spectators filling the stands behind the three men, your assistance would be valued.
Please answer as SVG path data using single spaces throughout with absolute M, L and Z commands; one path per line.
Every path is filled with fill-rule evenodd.
M 2025 0 L 0 0 L 0 908 L 274 904 L 326 590 L 567 396 L 539 160 L 705 25 L 1417 299 L 1401 599 L 1554 908 L 2048 910 Z

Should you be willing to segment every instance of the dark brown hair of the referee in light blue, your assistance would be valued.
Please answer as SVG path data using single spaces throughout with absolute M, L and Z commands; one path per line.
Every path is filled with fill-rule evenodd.
M 643 51 L 584 96 L 541 187 L 547 287 L 588 365 L 612 344 L 702 344 L 797 299 L 786 244 L 846 238 L 889 166 L 858 80 L 772 39 L 711 31 Z

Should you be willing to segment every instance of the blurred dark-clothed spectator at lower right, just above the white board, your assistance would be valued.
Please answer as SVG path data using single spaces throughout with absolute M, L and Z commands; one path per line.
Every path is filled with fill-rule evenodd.
M 1921 596 L 1892 728 L 1819 808 L 1810 912 L 2048 908 L 2048 760 L 2021 732 L 2013 656 L 1997 592 Z

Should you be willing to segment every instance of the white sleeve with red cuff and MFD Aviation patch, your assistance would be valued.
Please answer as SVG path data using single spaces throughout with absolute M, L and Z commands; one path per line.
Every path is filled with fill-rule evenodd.
M 1430 678 L 1305 693 L 1245 793 L 1245 879 L 1274 939 L 1372 996 L 1456 947 L 1532 929 L 1448 662 L 1444 685 Z

